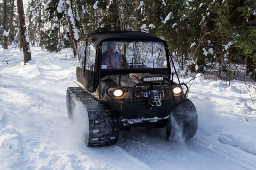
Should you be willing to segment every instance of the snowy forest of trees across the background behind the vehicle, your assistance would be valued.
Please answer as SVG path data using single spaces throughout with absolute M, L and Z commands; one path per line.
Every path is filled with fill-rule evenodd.
M 256 0 L 0 0 L 0 48 L 20 48 L 25 64 L 30 47 L 76 57 L 79 36 L 110 30 L 165 39 L 184 75 L 256 78 Z

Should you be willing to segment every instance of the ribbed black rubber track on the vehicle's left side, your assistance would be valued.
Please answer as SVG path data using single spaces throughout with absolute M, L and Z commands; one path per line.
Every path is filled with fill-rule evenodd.
M 66 102 L 68 117 L 71 121 L 76 114 L 76 105 L 84 106 L 82 115 L 88 117 L 86 123 L 89 124 L 89 129 L 84 134 L 84 141 L 88 147 L 104 147 L 117 143 L 120 131 L 120 113 L 109 109 L 80 87 L 67 89 Z

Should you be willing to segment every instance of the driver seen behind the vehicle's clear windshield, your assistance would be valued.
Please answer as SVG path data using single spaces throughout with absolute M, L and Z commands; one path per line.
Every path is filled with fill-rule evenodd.
M 123 64 L 123 55 L 118 53 L 118 41 L 109 41 L 106 42 L 107 49 L 102 53 L 102 68 L 107 69 L 118 69 L 125 68 L 126 64 Z

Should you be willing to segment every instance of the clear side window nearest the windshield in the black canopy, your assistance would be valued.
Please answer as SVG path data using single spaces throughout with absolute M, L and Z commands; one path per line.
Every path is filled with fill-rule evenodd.
M 87 42 L 86 46 L 86 70 L 94 71 L 96 58 L 96 44 Z

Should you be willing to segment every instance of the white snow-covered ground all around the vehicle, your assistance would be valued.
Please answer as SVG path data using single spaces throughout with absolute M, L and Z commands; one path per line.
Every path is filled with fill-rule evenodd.
M 188 83 L 199 119 L 189 141 L 165 141 L 164 129 L 147 127 L 121 132 L 117 145 L 88 148 L 66 112 L 66 88 L 76 86 L 72 51 L 31 53 L 23 65 L 21 51 L 0 49 L 1 170 L 256 169 L 254 88 L 199 76 Z

